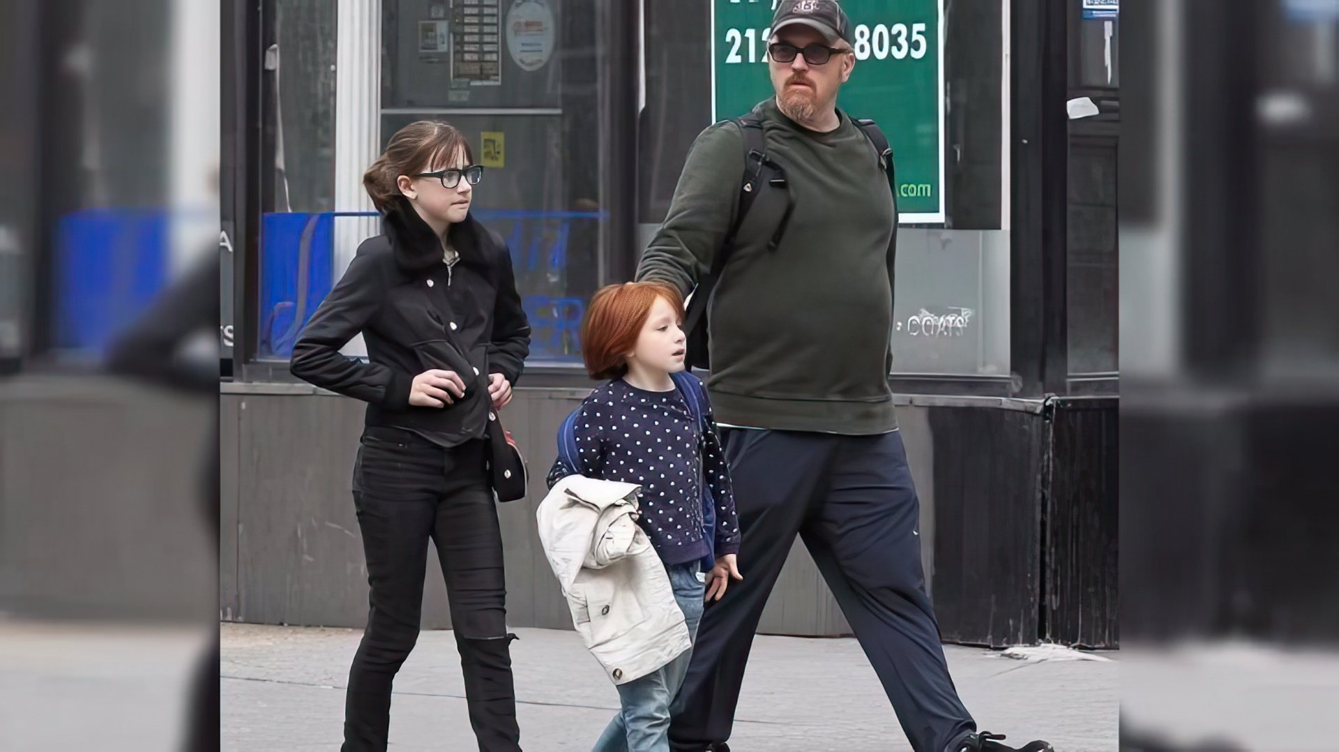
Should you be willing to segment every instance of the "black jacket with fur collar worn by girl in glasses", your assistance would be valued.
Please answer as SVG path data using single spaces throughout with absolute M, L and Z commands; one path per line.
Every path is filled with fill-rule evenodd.
M 367 425 L 404 428 L 451 446 L 483 436 L 490 373 L 513 385 L 530 351 L 511 256 L 502 237 L 474 217 L 451 225 L 461 255 L 442 261 L 442 244 L 406 200 L 387 212 L 383 233 L 358 248 L 293 344 L 293 375 L 368 402 Z M 368 362 L 339 353 L 363 332 Z M 459 373 L 463 399 L 412 408 L 414 377 Z

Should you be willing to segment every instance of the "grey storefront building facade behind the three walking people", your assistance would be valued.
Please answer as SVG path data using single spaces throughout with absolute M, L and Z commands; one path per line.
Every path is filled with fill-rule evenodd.
M 902 214 L 890 383 L 944 638 L 1114 646 L 1119 17 L 1115 1 L 846 0 L 840 106 L 880 122 Z M 356 626 L 362 406 L 288 375 L 378 220 L 362 173 L 415 119 L 487 168 L 534 338 L 509 425 L 534 492 L 502 508 L 510 619 L 565 627 L 533 532 L 577 328 L 631 279 L 694 137 L 770 91 L 771 3 L 261 0 L 222 15 L 224 618 Z M 349 355 L 362 354 L 351 342 Z M 428 587 L 424 619 L 447 626 Z M 797 544 L 763 631 L 849 630 Z

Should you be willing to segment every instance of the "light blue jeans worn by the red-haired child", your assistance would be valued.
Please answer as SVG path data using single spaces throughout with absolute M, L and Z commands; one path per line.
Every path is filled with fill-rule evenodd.
M 698 562 L 665 567 L 670 584 L 674 586 L 674 599 L 683 610 L 688 623 L 688 638 L 698 639 L 698 622 L 702 621 L 703 597 L 707 586 Z M 595 752 L 670 752 L 670 704 L 679 693 L 692 649 L 670 661 L 649 674 L 617 685 L 623 709 L 609 721 Z

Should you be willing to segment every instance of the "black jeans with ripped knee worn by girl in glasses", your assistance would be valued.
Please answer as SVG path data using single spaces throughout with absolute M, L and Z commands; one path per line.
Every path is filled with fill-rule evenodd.
M 502 534 L 485 446 L 442 449 L 388 428 L 363 433 L 353 504 L 367 554 L 371 611 L 348 676 L 344 752 L 386 749 L 391 682 L 418 641 L 427 543 L 446 578 L 470 725 L 479 749 L 520 749 L 506 631 Z

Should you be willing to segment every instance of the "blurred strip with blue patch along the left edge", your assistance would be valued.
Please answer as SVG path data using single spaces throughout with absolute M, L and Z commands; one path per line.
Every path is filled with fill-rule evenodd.
M 158 377 L 217 379 L 217 335 L 131 327 L 213 257 L 218 17 L 0 0 L 0 749 L 183 747 L 217 634 L 217 401 Z M 217 281 L 194 280 L 208 324 Z M 153 378 L 104 373 L 111 350 Z

